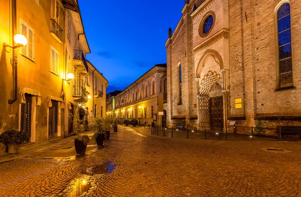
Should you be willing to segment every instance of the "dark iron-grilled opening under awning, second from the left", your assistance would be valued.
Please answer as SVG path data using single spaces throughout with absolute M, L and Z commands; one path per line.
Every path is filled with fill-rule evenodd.
M 58 136 L 58 111 L 59 102 L 51 100 L 52 107 L 49 108 L 48 116 L 48 138 L 54 138 Z

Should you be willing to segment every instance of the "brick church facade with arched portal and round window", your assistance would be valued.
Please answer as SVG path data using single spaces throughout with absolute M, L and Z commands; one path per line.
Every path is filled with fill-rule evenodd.
M 168 127 L 301 126 L 301 1 L 186 0 L 167 49 Z

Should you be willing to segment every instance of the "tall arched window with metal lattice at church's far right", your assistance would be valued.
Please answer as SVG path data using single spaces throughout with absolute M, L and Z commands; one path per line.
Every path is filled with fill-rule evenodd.
M 282 4 L 277 11 L 279 87 L 292 86 L 290 5 Z

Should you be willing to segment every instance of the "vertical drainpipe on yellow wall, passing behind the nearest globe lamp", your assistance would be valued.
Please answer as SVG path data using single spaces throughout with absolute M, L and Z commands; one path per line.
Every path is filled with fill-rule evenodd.
M 14 42 L 14 36 L 17 32 L 17 2 L 16 0 L 12 1 L 12 23 L 13 23 L 13 28 L 12 28 L 12 40 Z M 15 63 L 15 97 L 14 99 L 9 100 L 9 104 L 12 105 L 15 103 L 18 99 L 18 57 L 17 57 L 17 49 L 13 49 L 13 57 L 14 57 L 14 63 Z

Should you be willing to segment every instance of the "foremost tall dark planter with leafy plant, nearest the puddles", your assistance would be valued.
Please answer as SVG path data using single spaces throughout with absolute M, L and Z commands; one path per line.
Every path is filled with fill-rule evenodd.
M 74 131 L 77 134 L 76 138 L 74 139 L 74 146 L 75 146 L 76 154 L 78 155 L 85 154 L 88 142 L 90 141 L 89 136 L 84 134 L 85 128 L 82 127 L 83 121 L 80 120 L 79 117 L 80 108 L 81 108 L 80 106 L 77 106 L 75 108 L 74 115 L 70 113 L 70 115 L 68 116 L 68 118 L 71 121 L 73 121 Z

